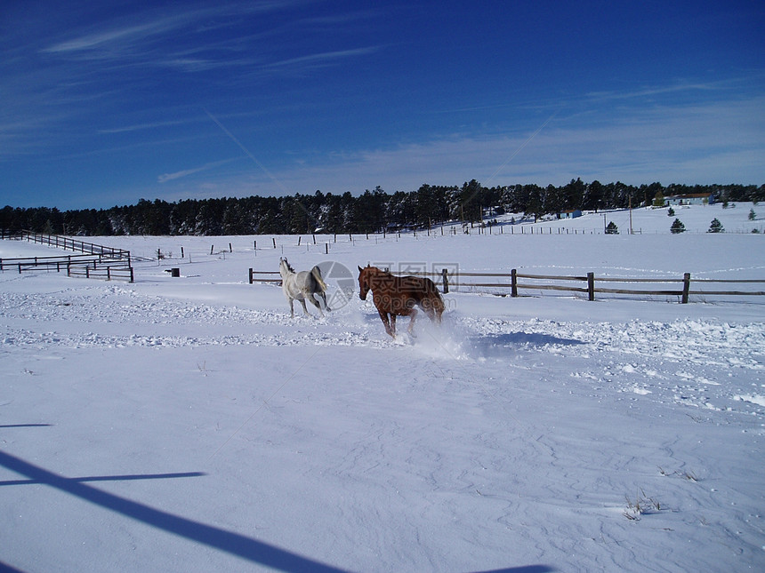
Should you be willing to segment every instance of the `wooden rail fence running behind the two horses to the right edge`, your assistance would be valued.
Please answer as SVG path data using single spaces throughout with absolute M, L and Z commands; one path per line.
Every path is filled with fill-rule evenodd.
M 568 276 L 568 275 L 528 275 L 519 273 L 517 269 L 512 269 L 510 273 L 471 273 L 462 271 L 449 271 L 443 269 L 440 273 L 411 273 L 412 275 L 431 276 L 436 279 L 436 283 L 439 283 L 441 290 L 444 294 L 447 294 L 450 289 L 500 289 L 510 290 L 511 297 L 518 297 L 519 290 L 560 290 L 568 292 L 586 293 L 588 300 L 595 300 L 595 294 L 624 294 L 624 295 L 641 295 L 641 296 L 676 296 L 680 298 L 681 304 L 688 304 L 688 297 L 694 296 L 763 296 L 765 290 L 691 290 L 691 276 L 690 273 L 683 274 L 682 278 L 630 278 L 630 277 L 611 277 L 603 276 L 597 277 L 594 273 L 587 273 L 586 275 Z M 253 283 L 281 283 L 281 278 L 276 278 L 274 275 L 279 275 L 278 271 L 258 271 L 253 268 L 249 269 L 248 280 L 250 284 Z M 489 277 L 489 278 L 506 278 L 509 282 L 504 283 L 463 283 L 463 277 Z M 520 283 L 519 279 L 527 279 L 527 281 L 535 281 L 535 283 Z M 542 281 L 543 283 L 539 283 Z M 563 284 L 560 284 L 563 283 Z M 573 286 L 570 283 L 582 284 L 583 286 Z M 669 290 L 644 290 L 644 289 L 629 289 L 629 288 L 608 288 L 598 287 L 596 283 L 674 283 L 678 284 L 679 288 Z M 694 279 L 692 282 L 694 285 L 697 283 L 725 283 L 725 284 L 765 284 L 765 280 L 757 279 Z M 506 292 L 502 296 L 506 296 Z

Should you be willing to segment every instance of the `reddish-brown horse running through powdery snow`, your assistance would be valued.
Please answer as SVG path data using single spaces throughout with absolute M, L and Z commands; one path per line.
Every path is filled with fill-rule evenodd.
M 415 327 L 415 317 L 419 306 L 431 321 L 440 324 L 444 312 L 444 300 L 431 279 L 419 276 L 394 276 L 377 267 L 358 267 L 358 296 L 366 300 L 366 294 L 372 290 L 372 300 L 385 331 L 396 338 L 396 316 L 411 316 L 409 334 Z

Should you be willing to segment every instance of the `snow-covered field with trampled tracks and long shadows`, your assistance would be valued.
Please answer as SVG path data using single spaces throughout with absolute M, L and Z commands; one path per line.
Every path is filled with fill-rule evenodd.
M 0 566 L 761 571 L 765 297 L 462 289 L 394 342 L 337 289 L 367 263 L 762 279 L 751 207 L 675 208 L 684 235 L 640 210 L 641 235 L 99 237 L 135 283 L 5 271 Z M 326 318 L 247 283 L 283 255 L 340 263 Z

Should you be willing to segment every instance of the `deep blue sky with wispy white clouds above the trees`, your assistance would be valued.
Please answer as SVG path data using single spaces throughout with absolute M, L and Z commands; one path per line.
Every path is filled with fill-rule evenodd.
M 0 206 L 765 183 L 765 4 L 0 3 Z

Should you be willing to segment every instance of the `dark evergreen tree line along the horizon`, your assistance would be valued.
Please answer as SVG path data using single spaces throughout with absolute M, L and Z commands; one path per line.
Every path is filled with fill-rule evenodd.
M 59 211 L 55 207 L 0 210 L 0 228 L 52 235 L 294 235 L 376 233 L 423 228 L 445 221 L 478 223 L 505 212 L 539 219 L 576 209 L 600 211 L 650 205 L 660 195 L 705 194 L 715 201 L 765 201 L 765 185 L 626 185 L 571 179 L 563 186 L 483 187 L 423 185 L 386 193 L 380 187 L 354 196 L 316 191 L 283 197 L 222 197 L 167 203 L 141 199 L 110 209 Z

